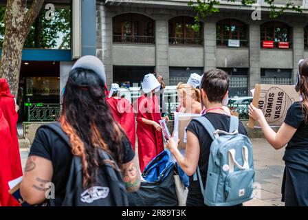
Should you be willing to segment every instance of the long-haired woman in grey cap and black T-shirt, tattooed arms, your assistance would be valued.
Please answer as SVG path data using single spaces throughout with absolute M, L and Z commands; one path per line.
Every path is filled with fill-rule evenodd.
M 113 120 L 106 101 L 105 82 L 104 66 L 98 58 L 85 56 L 74 65 L 65 87 L 59 120 L 71 148 L 53 131 L 46 128 L 37 131 L 21 183 L 21 195 L 28 203 L 45 201 L 45 184 L 52 182 L 56 205 L 61 205 L 73 156 L 81 159 L 83 186 L 94 186 L 101 149 L 109 153 L 121 168 L 126 190 L 130 192 L 139 188 L 140 174 L 135 153 Z

